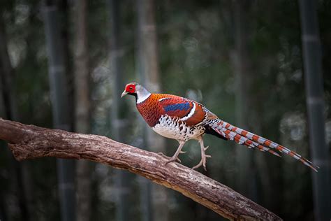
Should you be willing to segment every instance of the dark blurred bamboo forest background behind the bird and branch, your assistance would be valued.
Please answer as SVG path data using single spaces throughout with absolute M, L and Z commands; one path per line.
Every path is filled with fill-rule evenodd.
M 331 1 L 316 3 L 330 156 Z M 136 81 L 311 158 L 300 22 L 299 3 L 287 0 L 1 1 L 0 117 L 172 155 L 177 142 L 147 128 L 133 99 L 120 99 Z M 205 143 L 212 159 L 202 173 L 285 220 L 314 219 L 307 166 L 212 136 Z M 132 173 L 54 158 L 16 162 L 0 145 L 1 221 L 222 220 Z M 182 164 L 194 166 L 198 143 L 184 150 Z

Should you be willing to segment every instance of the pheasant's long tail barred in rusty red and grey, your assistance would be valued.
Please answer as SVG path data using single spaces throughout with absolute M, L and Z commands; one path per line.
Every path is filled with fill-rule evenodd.
M 299 160 L 300 162 L 302 162 L 302 164 L 309 166 L 316 172 L 319 168 L 318 166 L 314 166 L 314 164 L 308 159 L 297 154 L 297 152 L 289 150 L 288 148 L 278 143 L 274 143 L 266 138 L 263 138 L 262 136 L 252 134 L 249 131 L 245 131 L 244 129 L 235 127 L 228 122 L 224 122 L 223 120 L 214 119 L 212 122 L 209 123 L 209 127 L 214 129 L 214 131 L 216 131 L 221 136 L 227 138 L 228 140 L 235 141 L 236 143 L 242 145 L 246 145 L 248 148 L 258 148 L 258 150 L 260 151 L 267 151 L 272 153 L 273 155 L 277 155 L 278 157 L 281 157 L 279 155 L 279 152 L 282 152 L 287 155 L 290 155 L 294 159 Z

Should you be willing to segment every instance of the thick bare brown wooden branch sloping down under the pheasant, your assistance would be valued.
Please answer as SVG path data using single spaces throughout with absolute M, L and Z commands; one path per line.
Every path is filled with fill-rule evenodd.
M 89 159 L 126 169 L 181 192 L 230 220 L 281 220 L 266 208 L 198 171 L 177 163 L 164 166 L 165 157 L 105 136 L 75 134 L 0 118 L 0 139 L 8 141 L 19 161 L 38 157 Z

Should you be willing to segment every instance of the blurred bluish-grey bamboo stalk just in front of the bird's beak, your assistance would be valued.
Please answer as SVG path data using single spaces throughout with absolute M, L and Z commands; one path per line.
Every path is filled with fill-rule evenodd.
M 128 109 L 126 101 L 121 99 L 121 93 L 124 87 L 124 76 L 122 71 L 123 47 L 121 42 L 121 5 L 122 1 L 108 0 L 109 25 L 110 25 L 110 75 L 112 78 L 112 107 L 111 107 L 111 125 L 112 136 L 116 141 L 126 141 L 126 110 Z M 116 171 L 115 174 L 115 192 L 117 221 L 132 220 L 128 208 L 133 205 L 130 201 L 132 179 L 127 171 Z

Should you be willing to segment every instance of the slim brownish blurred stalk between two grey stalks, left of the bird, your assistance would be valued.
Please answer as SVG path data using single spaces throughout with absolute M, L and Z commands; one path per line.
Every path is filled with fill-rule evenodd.
M 87 0 L 76 0 L 73 12 L 75 24 L 75 131 L 91 132 L 90 72 L 87 39 Z M 91 219 L 91 162 L 79 160 L 76 165 L 77 220 Z

